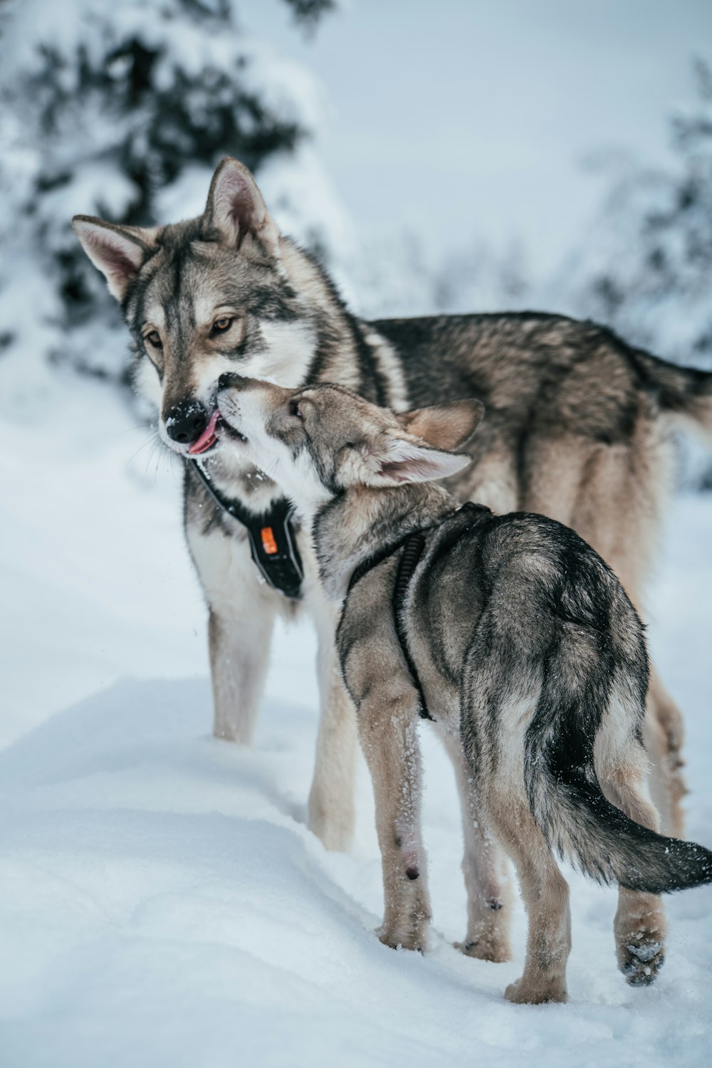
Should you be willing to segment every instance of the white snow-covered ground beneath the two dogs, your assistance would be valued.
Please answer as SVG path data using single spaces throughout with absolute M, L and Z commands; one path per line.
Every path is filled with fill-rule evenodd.
M 567 1006 L 511 1006 L 521 969 L 464 932 L 449 769 L 424 731 L 434 924 L 380 945 L 365 773 L 350 855 L 304 826 L 314 642 L 281 632 L 256 744 L 209 736 L 204 611 L 178 478 L 101 386 L 0 422 L 0 1065 L 707 1065 L 712 891 L 669 900 L 659 983 L 615 967 L 615 895 L 572 877 Z M 680 499 L 650 639 L 686 712 L 690 834 L 712 845 L 712 501 Z M 295 696 L 297 695 L 297 696 Z

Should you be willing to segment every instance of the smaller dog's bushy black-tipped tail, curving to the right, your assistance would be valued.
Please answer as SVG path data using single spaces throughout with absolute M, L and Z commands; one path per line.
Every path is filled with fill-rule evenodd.
M 599 882 L 664 894 L 712 882 L 712 852 L 666 838 L 630 819 L 604 797 L 594 768 L 597 698 L 584 707 L 567 693 L 565 673 L 550 672 L 526 735 L 532 815 L 549 845 Z M 586 704 L 588 700 L 586 698 Z M 602 727 L 604 729 L 604 727 Z

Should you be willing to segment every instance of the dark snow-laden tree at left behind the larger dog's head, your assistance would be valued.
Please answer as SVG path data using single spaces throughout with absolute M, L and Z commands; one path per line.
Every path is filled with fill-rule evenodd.
M 307 30 L 333 6 L 285 3 Z M 76 213 L 140 225 L 197 214 L 230 154 L 266 184 L 278 219 L 328 245 L 338 218 L 308 147 L 320 91 L 238 15 L 239 0 L 0 4 L 0 346 L 28 374 L 47 358 L 110 377 L 126 366 Z

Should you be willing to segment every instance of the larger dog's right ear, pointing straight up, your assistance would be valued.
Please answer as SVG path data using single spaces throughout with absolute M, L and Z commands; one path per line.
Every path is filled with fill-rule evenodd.
M 203 214 L 203 236 L 217 236 L 239 249 L 248 236 L 255 237 L 272 254 L 279 251 L 280 231 L 272 220 L 247 167 L 231 156 L 218 164 Z

